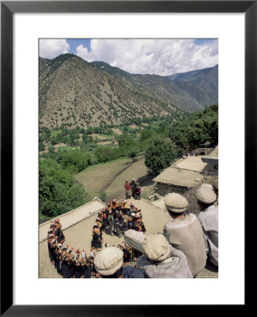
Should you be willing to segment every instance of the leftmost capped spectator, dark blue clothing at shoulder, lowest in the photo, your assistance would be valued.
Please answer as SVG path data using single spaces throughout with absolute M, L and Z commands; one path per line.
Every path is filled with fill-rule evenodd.
M 124 253 L 118 247 L 107 247 L 95 256 L 95 269 L 102 278 L 144 278 L 143 273 L 133 266 L 125 266 Z

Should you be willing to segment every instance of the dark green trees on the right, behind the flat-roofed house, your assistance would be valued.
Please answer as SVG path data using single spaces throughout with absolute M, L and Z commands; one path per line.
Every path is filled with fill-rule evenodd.
M 145 129 L 141 140 L 150 140 L 145 147 L 145 165 L 150 173 L 158 175 L 185 148 L 195 149 L 207 141 L 217 144 L 218 106 L 214 104 L 170 125 L 160 124 L 155 130 Z

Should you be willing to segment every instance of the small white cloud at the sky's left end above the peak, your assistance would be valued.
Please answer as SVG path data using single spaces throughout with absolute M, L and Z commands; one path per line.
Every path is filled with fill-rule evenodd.
M 54 58 L 68 53 L 69 48 L 66 39 L 40 39 L 40 57 Z

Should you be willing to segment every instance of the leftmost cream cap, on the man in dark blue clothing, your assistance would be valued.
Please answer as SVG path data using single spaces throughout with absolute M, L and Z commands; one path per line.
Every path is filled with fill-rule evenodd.
M 117 247 L 102 249 L 95 256 L 95 269 L 100 275 L 112 275 L 121 268 L 123 252 Z

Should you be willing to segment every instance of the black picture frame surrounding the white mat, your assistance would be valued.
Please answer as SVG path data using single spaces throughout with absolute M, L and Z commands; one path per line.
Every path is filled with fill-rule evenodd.
M 257 1 L 1 1 L 1 316 L 181 316 L 204 305 L 13 305 L 13 13 L 245 13 L 245 210 L 256 196 Z M 255 180 L 254 183 L 250 182 Z M 247 181 L 249 180 L 249 181 Z M 8 211 L 8 212 L 6 212 Z M 247 244 L 246 244 L 247 245 Z M 4 254 L 10 254 L 6 261 Z M 169 292 L 172 292 L 169 287 Z M 246 299 L 246 297 L 245 297 Z M 246 307 L 239 305 L 237 311 Z M 223 306 L 222 309 L 225 307 Z M 207 310 L 206 310 L 207 309 Z M 216 305 L 212 313 L 220 309 Z M 222 311 L 224 313 L 224 310 Z

